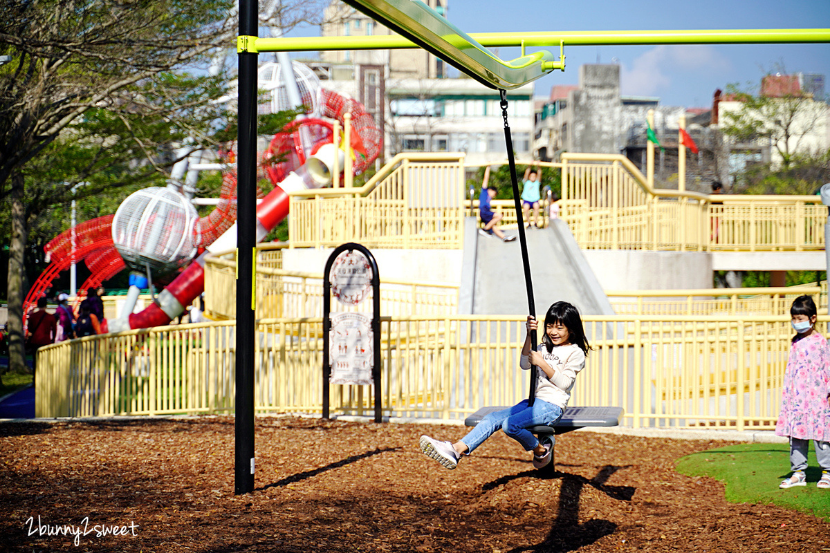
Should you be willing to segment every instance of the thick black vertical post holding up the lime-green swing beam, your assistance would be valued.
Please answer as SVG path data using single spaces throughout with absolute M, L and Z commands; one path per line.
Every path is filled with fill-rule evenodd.
M 239 0 L 239 36 L 258 36 L 259 2 Z M 256 64 L 252 41 L 241 40 L 237 137 L 237 398 L 234 493 L 254 489 L 254 310 L 256 247 Z

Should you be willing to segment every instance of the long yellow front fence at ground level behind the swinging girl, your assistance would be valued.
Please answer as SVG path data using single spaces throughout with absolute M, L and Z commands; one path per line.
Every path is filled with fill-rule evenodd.
M 593 345 L 570 405 L 618 405 L 634 428 L 771 429 L 792 330 L 788 316 L 585 317 Z M 823 327 L 824 321 L 820 322 Z M 233 322 L 86 337 L 38 352 L 37 416 L 233 410 Z M 525 397 L 521 317 L 383 318 L 383 412 L 460 420 Z M 322 409 L 322 321 L 257 323 L 256 410 Z M 334 413 L 373 409 L 362 386 L 333 386 Z

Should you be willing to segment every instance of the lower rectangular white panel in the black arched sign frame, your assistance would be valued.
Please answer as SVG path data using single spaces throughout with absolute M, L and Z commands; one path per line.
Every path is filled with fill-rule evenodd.
M 372 385 L 372 318 L 364 313 L 331 313 L 331 384 Z

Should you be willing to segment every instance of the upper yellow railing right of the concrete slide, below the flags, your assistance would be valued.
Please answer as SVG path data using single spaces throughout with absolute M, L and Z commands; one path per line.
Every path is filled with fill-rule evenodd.
M 624 156 L 564 153 L 562 212 L 586 249 L 823 250 L 818 196 L 708 196 L 654 189 Z

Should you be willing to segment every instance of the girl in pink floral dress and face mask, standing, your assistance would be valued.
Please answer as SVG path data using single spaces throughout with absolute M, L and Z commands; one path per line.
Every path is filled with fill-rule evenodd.
M 822 468 L 818 488 L 830 488 L 830 348 L 815 329 L 816 304 L 810 296 L 798 296 L 789 308 L 793 318 L 793 345 L 789 350 L 781 414 L 775 434 L 789 437 L 789 463 L 793 475 L 779 488 L 806 486 L 809 440 L 816 447 Z

